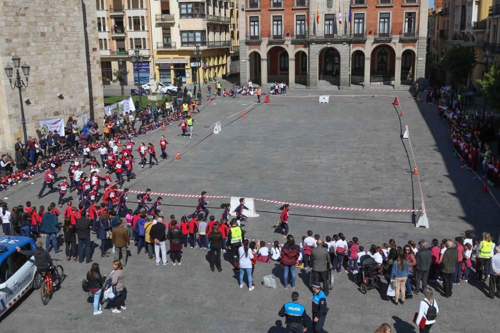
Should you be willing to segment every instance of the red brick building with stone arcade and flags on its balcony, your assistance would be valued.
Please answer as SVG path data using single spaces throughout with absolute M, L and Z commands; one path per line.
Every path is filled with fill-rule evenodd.
M 427 7 L 428 0 L 245 0 L 241 82 L 407 89 L 424 79 Z

